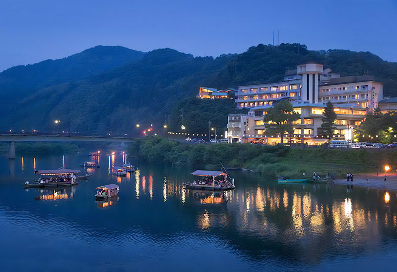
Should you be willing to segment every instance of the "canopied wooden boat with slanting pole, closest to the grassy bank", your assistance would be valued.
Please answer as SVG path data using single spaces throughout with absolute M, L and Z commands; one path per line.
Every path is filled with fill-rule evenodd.
M 223 171 L 205 171 L 196 170 L 191 173 L 199 176 L 199 180 L 193 182 L 185 182 L 185 188 L 201 189 L 201 190 L 229 190 L 234 189 L 234 180 L 227 180 L 227 173 Z

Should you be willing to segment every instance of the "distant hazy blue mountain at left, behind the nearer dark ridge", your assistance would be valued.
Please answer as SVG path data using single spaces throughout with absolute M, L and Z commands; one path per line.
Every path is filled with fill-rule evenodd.
M 78 81 L 111 71 L 143 55 L 121 46 L 96 46 L 62 59 L 14 66 L 0 73 L 0 94 L 15 91 L 25 94 L 54 84 Z

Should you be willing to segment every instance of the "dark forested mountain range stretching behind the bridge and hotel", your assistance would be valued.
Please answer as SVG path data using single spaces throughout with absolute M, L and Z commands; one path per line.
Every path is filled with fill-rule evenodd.
M 0 129 L 43 131 L 70 127 L 80 132 L 131 134 L 139 132 L 135 127 L 137 123 L 162 127 L 170 118 L 169 128 L 177 129 L 181 121 L 174 119 L 181 118 L 179 109 L 189 118 L 189 122 L 187 119 L 184 122 L 195 126 L 187 128 L 189 130 L 199 127 L 203 130 L 204 126 L 197 124 L 209 120 L 216 120 L 214 126 L 224 127 L 226 115 L 235 109 L 230 103 L 225 107 L 215 101 L 195 103 L 192 99 L 200 86 L 222 89 L 278 81 L 283 79 L 286 69 L 295 69 L 296 65 L 308 61 L 323 63 L 325 68 L 330 67 L 341 76 L 372 74 L 384 83 L 385 95 L 397 96 L 397 63 L 369 52 L 310 51 L 300 44 L 260 44 L 242 54 L 213 58 L 194 57 L 168 48 L 148 53 L 121 49 L 124 53 L 120 51 L 119 58 L 114 57 L 114 61 L 106 65 L 100 60 L 106 58 L 106 54 L 102 54 L 102 58 L 98 54 L 88 54 L 92 50 L 106 51 L 103 47 L 79 53 L 84 54 L 74 60 L 69 58 L 79 54 L 54 60 L 52 62 L 65 61 L 68 65 L 52 74 L 50 69 L 49 75 L 41 79 L 33 76 L 36 68 L 31 70 L 28 66 L 30 69 L 26 70 L 20 67 L 20 72 L 10 73 L 13 68 L 4 71 L 0 74 L 0 88 L 4 82 L 16 81 L 16 78 L 21 82 L 1 88 L 0 95 L 21 92 L 18 88 L 22 88 L 25 95 L 15 97 L 9 104 L 2 114 Z M 121 58 L 124 58 L 120 57 L 123 54 L 134 54 L 134 57 L 130 55 L 131 58 L 123 63 Z M 0 103 L 4 106 L 4 101 Z M 189 111 L 198 114 L 187 114 Z M 61 119 L 62 125 L 56 127 L 55 119 Z

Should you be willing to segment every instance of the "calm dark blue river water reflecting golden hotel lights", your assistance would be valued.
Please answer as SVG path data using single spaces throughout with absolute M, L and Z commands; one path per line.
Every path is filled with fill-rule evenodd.
M 0 157 L 5 271 L 395 268 L 396 192 L 277 185 L 233 171 L 235 190 L 205 193 L 182 189 L 196 170 L 191 167 L 128 159 L 138 171 L 123 178 L 109 175 L 112 165 L 125 160 L 122 155 L 102 155 L 101 168 L 78 186 L 23 189 L 25 181 L 38 177 L 35 167 L 77 168 L 87 160 L 85 155 Z M 108 183 L 120 185 L 119 198 L 96 202 L 95 187 Z

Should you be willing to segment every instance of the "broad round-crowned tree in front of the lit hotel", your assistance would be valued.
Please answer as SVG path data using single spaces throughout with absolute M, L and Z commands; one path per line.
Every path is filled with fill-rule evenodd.
M 265 129 L 268 134 L 281 134 L 281 143 L 284 140 L 284 133 L 293 134 L 292 122 L 298 120 L 300 114 L 294 111 L 292 104 L 281 100 L 267 110 L 264 116 Z

